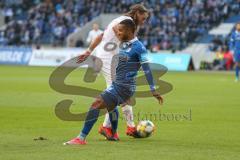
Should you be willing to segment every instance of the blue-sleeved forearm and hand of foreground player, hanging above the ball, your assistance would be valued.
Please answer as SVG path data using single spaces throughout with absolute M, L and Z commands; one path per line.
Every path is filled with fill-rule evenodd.
M 159 104 L 163 104 L 163 98 L 161 97 L 160 93 L 158 93 L 155 90 L 154 80 L 153 80 L 153 76 L 152 76 L 152 72 L 151 72 L 151 69 L 149 67 L 149 64 L 147 62 L 142 63 L 142 68 L 143 68 L 143 71 L 145 73 L 147 82 L 150 86 L 150 90 L 152 92 L 153 97 L 155 97 L 158 100 Z

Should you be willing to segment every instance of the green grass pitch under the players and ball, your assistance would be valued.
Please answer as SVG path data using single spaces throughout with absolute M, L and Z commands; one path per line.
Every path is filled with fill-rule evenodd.
M 173 85 L 160 107 L 155 99 L 137 99 L 135 122 L 145 114 L 162 114 L 154 119 L 152 137 L 133 139 L 125 135 L 120 113 L 119 142 L 108 142 L 97 133 L 101 117 L 86 146 L 63 146 L 76 136 L 83 122 L 66 122 L 54 114 L 57 102 L 73 99 L 72 112 L 87 111 L 93 101 L 83 96 L 53 91 L 48 78 L 54 68 L 0 66 L 0 159 L 1 160 L 239 160 L 240 83 L 233 73 L 168 72 L 163 80 Z M 82 70 L 66 80 L 73 85 L 104 89 L 102 77 L 84 84 Z M 190 112 L 191 110 L 191 112 Z M 138 114 L 138 115 L 137 115 Z M 171 115 L 182 116 L 180 119 Z M 190 117 L 191 116 L 191 117 Z M 48 140 L 34 141 L 45 137 Z

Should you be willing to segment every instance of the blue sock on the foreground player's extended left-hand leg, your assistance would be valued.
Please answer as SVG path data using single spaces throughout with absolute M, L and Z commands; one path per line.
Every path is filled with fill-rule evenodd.
M 87 137 L 93 125 L 98 119 L 99 112 L 100 112 L 99 109 L 93 109 L 92 107 L 89 109 L 87 117 L 85 119 L 83 129 L 79 135 L 79 138 L 85 139 Z

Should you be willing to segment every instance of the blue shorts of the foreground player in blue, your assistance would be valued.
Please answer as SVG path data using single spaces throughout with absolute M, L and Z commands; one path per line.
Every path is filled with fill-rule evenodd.
M 105 91 L 101 93 L 101 97 L 107 105 L 107 109 L 113 109 L 116 106 L 127 102 L 134 94 L 135 87 L 127 87 L 125 85 L 117 85 L 112 83 Z

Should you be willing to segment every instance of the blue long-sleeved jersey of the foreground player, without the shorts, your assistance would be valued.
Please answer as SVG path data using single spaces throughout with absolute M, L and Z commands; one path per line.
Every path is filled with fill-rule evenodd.
M 148 83 L 153 89 L 152 75 L 147 64 L 147 50 L 145 46 L 137 39 L 123 43 L 118 54 L 118 65 L 116 68 L 116 79 L 114 82 L 118 85 L 134 87 L 136 86 L 136 76 L 142 66 Z

